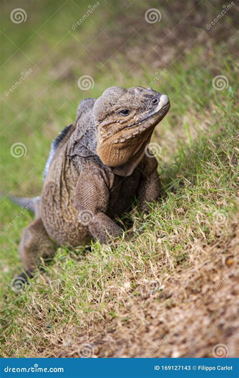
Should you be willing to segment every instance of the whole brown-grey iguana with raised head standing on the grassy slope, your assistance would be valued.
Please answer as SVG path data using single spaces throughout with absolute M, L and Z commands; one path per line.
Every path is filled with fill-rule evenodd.
M 12 197 L 31 203 L 35 213 L 19 245 L 22 277 L 32 277 L 40 259 L 52 257 L 59 245 L 92 238 L 104 243 L 123 234 L 114 218 L 135 196 L 143 211 L 158 199 L 157 160 L 146 148 L 169 107 L 168 97 L 150 87 L 110 87 L 80 102 L 75 122 L 51 145 L 40 197 Z

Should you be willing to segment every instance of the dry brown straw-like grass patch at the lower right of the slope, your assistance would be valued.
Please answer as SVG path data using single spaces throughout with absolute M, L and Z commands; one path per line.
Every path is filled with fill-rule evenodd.
M 57 335 L 45 334 L 49 346 L 41 355 L 78 357 L 81 344 L 89 343 L 97 357 L 212 357 L 213 346 L 222 343 L 228 347 L 228 356 L 235 357 L 236 228 L 236 218 L 227 223 L 225 234 L 215 222 L 217 240 L 205 245 L 205 240 L 195 238 L 188 245 L 190 258 L 184 266 L 170 270 L 173 262 L 165 256 L 156 263 L 149 260 L 140 277 L 134 269 L 124 272 L 122 286 L 113 284 L 111 277 L 103 298 L 98 293 L 105 303 L 109 299 L 103 314 L 93 311 L 85 317 L 78 312 L 84 327 L 79 331 L 69 322 Z M 181 237 L 176 236 L 174 242 L 180 243 Z M 109 313 L 112 301 L 119 303 L 114 303 L 113 317 Z

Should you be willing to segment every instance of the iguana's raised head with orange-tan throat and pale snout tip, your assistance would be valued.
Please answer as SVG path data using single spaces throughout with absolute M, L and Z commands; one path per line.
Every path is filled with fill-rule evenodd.
M 169 107 L 169 98 L 150 87 L 106 89 L 93 107 L 101 161 L 111 167 L 138 163 Z

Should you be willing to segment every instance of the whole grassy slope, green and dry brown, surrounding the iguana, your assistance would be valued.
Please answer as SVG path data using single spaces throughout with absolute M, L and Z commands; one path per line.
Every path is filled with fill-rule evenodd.
M 134 204 L 124 219 L 134 241 L 59 248 L 15 292 L 17 245 L 32 217 L 3 199 L 1 356 L 209 357 L 217 344 L 236 355 L 235 10 L 207 30 L 223 3 L 185 3 L 102 2 L 75 30 L 87 2 L 29 2 L 20 24 L 10 19 L 17 3 L 4 5 L 3 192 L 40 193 L 50 142 L 83 98 L 154 82 L 171 108 L 153 135 L 163 199 L 147 217 Z M 159 23 L 145 21 L 149 8 L 160 9 Z M 94 79 L 91 90 L 79 89 L 82 75 Z M 11 154 L 14 143 L 24 156 Z

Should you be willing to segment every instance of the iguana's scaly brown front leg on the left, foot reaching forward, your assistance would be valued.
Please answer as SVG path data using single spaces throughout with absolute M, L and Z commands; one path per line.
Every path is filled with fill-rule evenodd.
M 78 220 L 88 226 L 94 239 L 100 243 L 107 241 L 107 236 L 123 234 L 118 226 L 105 212 L 109 201 L 109 188 L 101 171 L 82 172 L 75 190 L 75 204 L 79 210 Z

